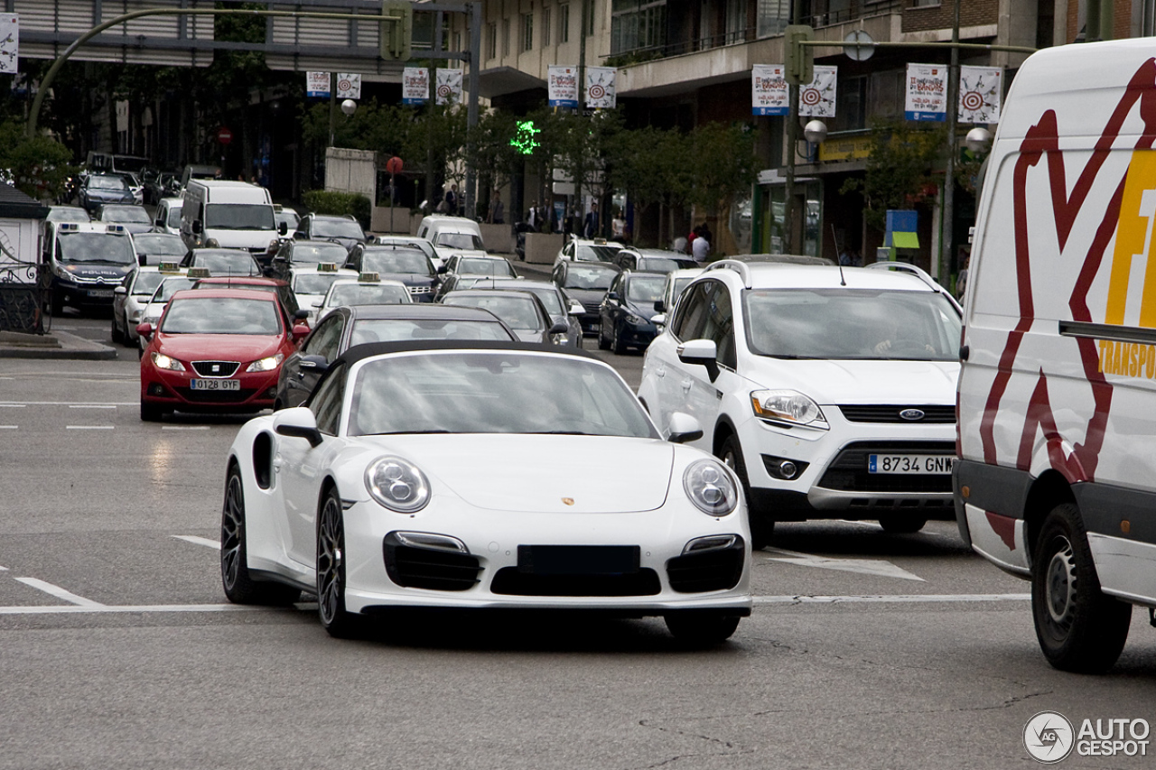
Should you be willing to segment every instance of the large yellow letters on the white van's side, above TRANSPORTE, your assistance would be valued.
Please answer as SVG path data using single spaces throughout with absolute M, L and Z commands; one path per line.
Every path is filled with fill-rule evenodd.
M 1107 306 L 1104 323 L 1124 324 L 1128 299 L 1132 260 L 1148 257 L 1144 290 L 1140 304 L 1140 325 L 1156 327 L 1156 256 L 1153 250 L 1153 224 L 1156 223 L 1156 151 L 1136 150 L 1128 164 L 1124 183 L 1124 200 L 1116 229 L 1116 249 L 1107 281 Z

